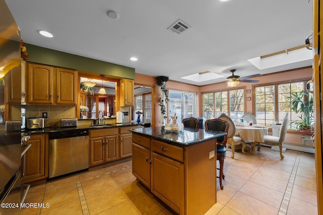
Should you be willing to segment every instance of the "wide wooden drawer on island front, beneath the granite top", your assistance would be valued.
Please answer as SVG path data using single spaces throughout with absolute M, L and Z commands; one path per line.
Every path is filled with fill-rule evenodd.
M 151 140 L 151 151 L 160 155 L 165 155 L 169 158 L 184 162 L 184 149 L 181 147 L 166 144 L 155 139 Z

